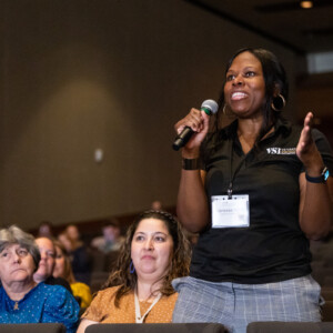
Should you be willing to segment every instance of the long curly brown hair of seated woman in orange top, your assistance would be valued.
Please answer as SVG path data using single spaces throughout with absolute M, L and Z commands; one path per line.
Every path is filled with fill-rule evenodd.
M 139 223 L 145 219 L 157 219 L 163 221 L 173 240 L 173 253 L 172 258 L 170 259 L 169 272 L 165 276 L 161 278 L 163 283 L 159 292 L 161 292 L 162 295 L 173 294 L 175 291 L 171 285 L 171 281 L 175 278 L 189 275 L 191 245 L 188 238 L 183 233 L 179 221 L 172 214 L 164 211 L 145 211 L 137 216 L 134 222 L 129 226 L 125 241 L 120 249 L 120 254 L 114 269 L 111 271 L 107 282 L 102 286 L 103 290 L 110 286 L 120 285 L 114 296 L 114 305 L 117 307 L 119 307 L 120 299 L 123 295 L 134 291 L 137 286 L 137 273 L 130 273 L 131 243 Z

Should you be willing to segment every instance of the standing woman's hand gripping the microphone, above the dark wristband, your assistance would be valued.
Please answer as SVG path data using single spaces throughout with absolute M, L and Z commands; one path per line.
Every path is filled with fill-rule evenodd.
M 182 150 L 184 158 L 193 159 L 199 157 L 200 145 L 209 130 L 209 122 L 210 117 L 204 111 L 192 108 L 190 113 L 174 125 L 178 134 L 180 134 L 185 127 L 191 128 L 194 132 Z

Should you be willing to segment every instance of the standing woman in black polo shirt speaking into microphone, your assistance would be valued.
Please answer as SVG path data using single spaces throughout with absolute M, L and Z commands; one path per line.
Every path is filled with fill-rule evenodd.
M 333 155 L 325 137 L 282 117 L 287 82 L 276 57 L 242 49 L 229 61 L 214 131 L 200 110 L 175 124 L 182 150 L 178 216 L 200 232 L 190 276 L 178 279 L 174 322 L 321 321 L 309 240 L 332 222 Z M 235 121 L 219 128 L 221 112 Z M 199 170 L 201 165 L 202 170 Z

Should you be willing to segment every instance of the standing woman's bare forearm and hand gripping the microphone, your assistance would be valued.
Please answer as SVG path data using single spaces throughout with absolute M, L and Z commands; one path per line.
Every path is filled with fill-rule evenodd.
M 176 214 L 191 232 L 200 232 L 209 223 L 209 205 L 204 191 L 204 172 L 195 165 L 200 157 L 200 145 L 208 133 L 209 117 L 196 109 L 175 124 L 175 130 L 180 133 L 184 127 L 191 127 L 195 132 L 186 145 L 182 149 L 183 168 L 176 201 Z M 188 168 L 184 159 L 190 160 Z M 185 169 L 194 170 L 185 170 Z M 185 169 L 184 169 L 185 168 Z

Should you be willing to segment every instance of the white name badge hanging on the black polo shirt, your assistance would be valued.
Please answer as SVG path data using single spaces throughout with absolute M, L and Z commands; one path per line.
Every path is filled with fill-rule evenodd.
M 249 194 L 213 195 L 212 228 L 244 228 L 250 225 Z

